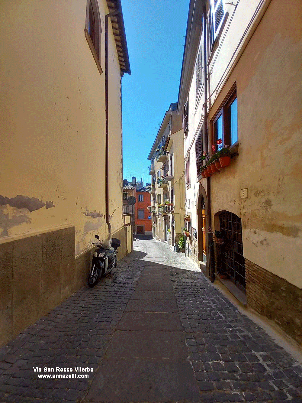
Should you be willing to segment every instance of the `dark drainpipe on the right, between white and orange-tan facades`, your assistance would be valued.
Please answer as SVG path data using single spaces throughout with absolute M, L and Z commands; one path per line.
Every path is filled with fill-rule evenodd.
M 208 133 L 208 88 L 207 88 L 207 9 L 203 6 L 203 44 L 204 44 L 204 83 L 205 83 L 205 152 L 209 155 L 209 133 Z M 207 177 L 207 209 L 208 209 L 208 226 L 211 228 L 212 213 L 211 213 L 211 181 L 210 177 Z M 215 268 L 214 268 L 214 251 L 213 251 L 213 237 L 212 234 L 208 234 L 208 248 L 209 248 L 209 274 L 211 283 L 215 280 Z

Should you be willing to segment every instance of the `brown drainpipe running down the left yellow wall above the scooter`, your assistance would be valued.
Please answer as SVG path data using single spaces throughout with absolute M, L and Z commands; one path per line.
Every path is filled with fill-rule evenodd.
M 111 235 L 111 224 L 109 217 L 109 129 L 108 129 L 108 19 L 120 14 L 120 10 L 105 15 L 105 141 L 106 141 L 106 224 L 108 235 Z

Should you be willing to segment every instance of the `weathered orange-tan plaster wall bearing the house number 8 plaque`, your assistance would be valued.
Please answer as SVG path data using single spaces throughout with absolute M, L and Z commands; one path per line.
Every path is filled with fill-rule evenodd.
M 299 288 L 301 16 L 300 1 L 271 1 L 209 113 L 209 119 L 213 118 L 236 81 L 239 155 L 221 174 L 211 177 L 212 213 L 225 209 L 240 216 L 245 258 Z M 217 77 L 221 77 L 225 64 L 221 63 L 220 68 Z M 211 77 L 212 89 L 215 80 Z M 248 188 L 246 199 L 240 199 L 243 188 Z

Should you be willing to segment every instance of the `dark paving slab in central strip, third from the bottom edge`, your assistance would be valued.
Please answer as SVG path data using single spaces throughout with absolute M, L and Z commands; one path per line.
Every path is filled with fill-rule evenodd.
M 183 330 L 178 313 L 125 312 L 119 330 Z

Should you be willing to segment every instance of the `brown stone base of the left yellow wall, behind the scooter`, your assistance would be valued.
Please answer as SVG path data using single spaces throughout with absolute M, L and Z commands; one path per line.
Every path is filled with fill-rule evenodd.
M 112 234 L 118 260 L 132 251 L 127 228 Z M 76 258 L 74 249 L 74 226 L 0 243 L 0 345 L 87 284 L 95 247 Z

